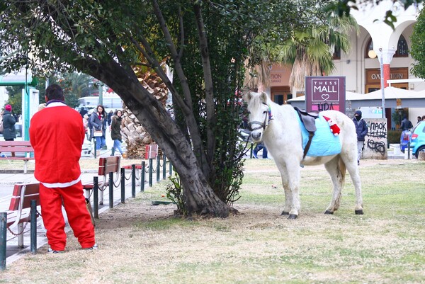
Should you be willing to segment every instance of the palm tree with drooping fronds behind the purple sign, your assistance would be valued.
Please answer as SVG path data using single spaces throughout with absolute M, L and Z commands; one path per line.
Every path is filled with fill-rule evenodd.
M 329 18 L 327 23 L 306 30 L 295 30 L 283 45 L 276 46 L 276 62 L 292 65 L 289 84 L 297 90 L 305 89 L 305 76 L 326 76 L 335 68 L 334 50 L 348 52 L 351 48 L 349 33 L 359 33 L 352 16 Z

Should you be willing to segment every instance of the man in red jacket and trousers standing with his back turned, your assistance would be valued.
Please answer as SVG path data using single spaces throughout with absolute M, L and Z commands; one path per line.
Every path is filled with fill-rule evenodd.
M 86 208 L 79 159 L 84 142 L 81 115 L 64 103 L 60 86 L 46 89 L 46 107 L 33 115 L 30 142 L 34 148 L 35 178 L 40 181 L 41 215 L 52 253 L 67 244 L 62 203 L 82 249 L 96 249 L 94 226 Z

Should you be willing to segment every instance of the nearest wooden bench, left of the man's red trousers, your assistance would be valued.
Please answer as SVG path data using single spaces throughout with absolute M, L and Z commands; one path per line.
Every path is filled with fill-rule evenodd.
M 19 183 L 13 187 L 11 203 L 6 211 L 6 228 L 18 236 L 18 247 L 23 248 L 24 223 L 35 222 L 31 220 L 30 208 L 31 200 L 36 200 L 37 206 L 40 206 L 40 183 Z M 38 212 L 35 214 L 39 216 Z

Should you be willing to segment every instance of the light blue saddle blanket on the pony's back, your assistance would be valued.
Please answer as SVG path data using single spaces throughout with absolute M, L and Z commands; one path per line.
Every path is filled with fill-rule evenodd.
M 305 149 L 305 145 L 308 142 L 308 131 L 305 129 L 304 124 L 301 123 L 296 110 L 294 111 L 302 132 L 302 149 Z M 312 144 L 310 144 L 310 149 L 308 149 L 306 156 L 322 157 L 341 153 L 339 136 L 335 136 L 331 132 L 329 123 L 323 118 L 323 115 L 319 114 L 319 118 L 315 119 L 315 123 L 317 130 L 314 132 Z

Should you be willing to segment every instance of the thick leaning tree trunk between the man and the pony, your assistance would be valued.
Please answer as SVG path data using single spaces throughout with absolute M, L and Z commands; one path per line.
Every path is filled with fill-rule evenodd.
M 129 76 L 116 62 L 102 64 L 102 67 L 95 69 L 92 75 L 97 75 L 118 93 L 174 165 L 183 184 L 188 214 L 227 217 L 229 206 L 217 198 L 208 185 L 191 144 L 162 103 L 143 88 L 136 76 Z

